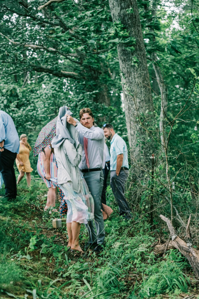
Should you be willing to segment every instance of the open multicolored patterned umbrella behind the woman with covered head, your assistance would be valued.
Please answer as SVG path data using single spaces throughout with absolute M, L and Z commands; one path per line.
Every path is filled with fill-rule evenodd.
M 57 123 L 57 116 L 53 120 L 50 120 L 47 125 L 45 125 L 35 142 L 35 146 L 33 147 L 34 157 L 39 154 L 39 152 L 44 151 L 44 149 L 51 143 L 54 136 L 56 135 L 56 123 Z

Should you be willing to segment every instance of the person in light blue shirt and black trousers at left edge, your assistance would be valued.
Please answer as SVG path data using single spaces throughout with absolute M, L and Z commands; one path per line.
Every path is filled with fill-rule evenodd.
M 19 136 L 9 114 L 0 110 L 0 172 L 5 185 L 5 197 L 16 199 L 14 161 L 19 154 Z

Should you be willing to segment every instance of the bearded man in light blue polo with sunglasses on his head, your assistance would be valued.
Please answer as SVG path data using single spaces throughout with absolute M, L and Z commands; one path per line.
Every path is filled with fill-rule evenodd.
M 111 188 L 118 204 L 120 215 L 131 219 L 131 210 L 124 196 L 124 186 L 128 178 L 128 151 L 125 141 L 117 135 L 110 123 L 103 125 L 104 135 L 111 140 L 110 148 L 110 170 Z

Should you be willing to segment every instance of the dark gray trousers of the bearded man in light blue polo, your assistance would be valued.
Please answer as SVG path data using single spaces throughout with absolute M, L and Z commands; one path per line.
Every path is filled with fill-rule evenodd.
M 120 170 L 119 176 L 116 171 L 111 171 L 111 188 L 115 196 L 120 215 L 128 215 L 131 213 L 128 202 L 124 196 L 124 185 L 128 178 L 128 170 Z

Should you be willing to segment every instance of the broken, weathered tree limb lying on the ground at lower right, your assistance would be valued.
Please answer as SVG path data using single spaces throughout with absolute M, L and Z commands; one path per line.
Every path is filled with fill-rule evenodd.
M 179 236 L 176 235 L 175 229 L 172 226 L 172 223 L 169 218 L 166 218 L 163 215 L 160 215 L 160 218 L 166 222 L 172 240 L 169 244 L 173 245 L 174 248 L 178 249 L 184 257 L 187 258 L 189 264 L 191 265 L 194 274 L 197 278 L 199 278 L 199 251 L 192 247 L 192 243 L 186 243 L 183 241 Z M 189 224 L 190 224 L 191 215 L 189 216 L 188 224 L 187 224 L 187 231 L 189 231 Z M 190 232 L 188 232 L 187 237 L 190 236 Z

